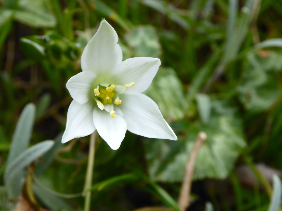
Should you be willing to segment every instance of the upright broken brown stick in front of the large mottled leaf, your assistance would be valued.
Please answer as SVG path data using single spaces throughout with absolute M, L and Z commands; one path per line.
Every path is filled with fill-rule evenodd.
M 206 139 L 207 139 L 207 134 L 205 132 L 198 133 L 198 136 L 195 141 L 195 145 L 186 163 L 184 178 L 181 185 L 180 194 L 178 197 L 178 206 L 181 211 L 185 211 L 187 207 L 189 207 L 194 165 L 199 149 L 201 148 L 202 144 Z

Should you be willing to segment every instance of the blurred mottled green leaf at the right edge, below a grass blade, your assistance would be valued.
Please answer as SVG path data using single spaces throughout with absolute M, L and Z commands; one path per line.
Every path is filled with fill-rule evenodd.
M 239 99 L 247 110 L 264 111 L 279 99 L 281 94 L 273 71 L 281 68 L 281 59 L 276 53 L 268 58 L 261 58 L 254 53 L 248 55 L 245 73 L 237 87 Z

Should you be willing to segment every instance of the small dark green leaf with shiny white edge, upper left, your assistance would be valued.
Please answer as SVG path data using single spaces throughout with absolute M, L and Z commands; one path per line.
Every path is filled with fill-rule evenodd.
M 34 36 L 20 38 L 20 44 L 26 57 L 36 61 L 40 61 L 45 57 L 44 46 L 42 46 L 42 44 Z

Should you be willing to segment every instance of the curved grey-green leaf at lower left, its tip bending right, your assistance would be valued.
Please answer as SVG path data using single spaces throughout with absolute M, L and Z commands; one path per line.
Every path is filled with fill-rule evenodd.
M 54 141 L 42 141 L 21 152 L 8 165 L 4 173 L 4 184 L 7 188 L 9 198 L 15 201 L 18 198 L 24 181 L 25 168 L 38 157 L 47 152 Z

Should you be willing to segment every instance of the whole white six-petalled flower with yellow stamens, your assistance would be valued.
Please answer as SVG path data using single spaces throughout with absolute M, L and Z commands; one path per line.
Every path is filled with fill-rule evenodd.
M 149 138 L 177 140 L 157 104 L 142 94 L 152 83 L 160 59 L 136 57 L 122 61 L 118 35 L 102 20 L 81 56 L 82 72 L 66 83 L 73 98 L 62 143 L 95 130 L 112 149 L 126 130 Z

